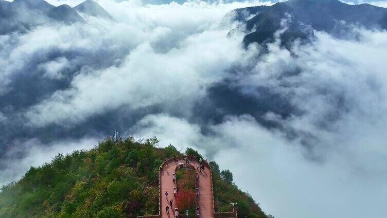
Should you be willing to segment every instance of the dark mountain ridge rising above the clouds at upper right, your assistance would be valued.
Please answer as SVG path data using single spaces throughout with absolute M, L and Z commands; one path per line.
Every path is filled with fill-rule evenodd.
M 341 25 L 362 25 L 365 28 L 387 29 L 387 9 L 370 4 L 348 5 L 338 0 L 290 0 L 272 6 L 253 6 L 231 11 L 228 16 L 241 22 L 236 29 L 244 31 L 244 46 L 251 43 L 266 44 L 275 40 L 274 33 L 285 26 L 280 39 L 289 47 L 294 40 L 308 41 L 313 29 L 340 34 Z M 344 24 L 342 23 L 344 22 Z

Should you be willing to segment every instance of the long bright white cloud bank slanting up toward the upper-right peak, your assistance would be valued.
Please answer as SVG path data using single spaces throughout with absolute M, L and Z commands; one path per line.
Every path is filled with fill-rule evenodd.
M 221 79 L 242 52 L 239 41 L 225 38 L 226 33 L 200 33 L 167 53 L 142 44 L 118 67 L 78 75 L 72 88 L 32 107 L 27 116 L 33 124 L 45 125 L 79 122 L 122 105 L 136 109 L 188 101 L 181 106 L 189 110 L 189 101 L 203 96 L 205 87 Z

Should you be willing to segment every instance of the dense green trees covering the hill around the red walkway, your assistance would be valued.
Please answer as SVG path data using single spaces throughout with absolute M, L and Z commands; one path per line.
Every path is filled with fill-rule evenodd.
M 106 139 L 89 151 L 58 154 L 20 181 L 1 188 L 0 217 L 134 217 L 159 211 L 158 170 L 162 161 L 182 155 L 173 146 L 157 148 L 158 140 L 141 143 L 132 137 Z M 187 149 L 187 154 L 199 155 Z M 215 207 L 229 211 L 238 203 L 238 217 L 266 217 L 250 195 L 232 183 L 230 171 L 214 172 Z

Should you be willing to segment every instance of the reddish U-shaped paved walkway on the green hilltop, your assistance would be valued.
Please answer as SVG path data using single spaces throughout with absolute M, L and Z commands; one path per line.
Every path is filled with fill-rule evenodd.
M 178 160 L 177 162 L 175 162 L 172 159 L 171 161 L 166 161 L 163 164 L 163 169 L 160 171 L 161 218 L 174 218 L 174 208 L 175 202 L 177 200 L 173 196 L 173 187 L 175 186 L 175 184 L 172 179 L 172 173 L 174 173 L 176 167 L 179 165 L 179 162 L 183 163 L 184 160 Z M 196 160 L 192 160 L 190 161 L 190 163 L 195 168 L 199 164 L 199 162 Z M 201 218 L 212 218 L 214 217 L 214 196 L 212 192 L 212 180 L 210 175 L 210 169 L 207 167 L 207 165 L 204 166 L 204 171 L 199 173 L 199 208 Z M 168 191 L 168 198 L 165 196 L 166 191 Z M 165 207 L 167 205 L 170 207 L 170 199 L 173 199 L 173 208 L 169 208 L 170 215 L 168 215 Z

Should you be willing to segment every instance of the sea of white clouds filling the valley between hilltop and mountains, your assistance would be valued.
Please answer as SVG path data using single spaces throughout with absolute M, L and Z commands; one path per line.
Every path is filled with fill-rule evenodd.
M 263 53 L 225 15 L 270 1 L 96 2 L 113 21 L 0 36 L 0 184 L 117 130 L 199 150 L 277 218 L 387 215 L 386 31 Z

